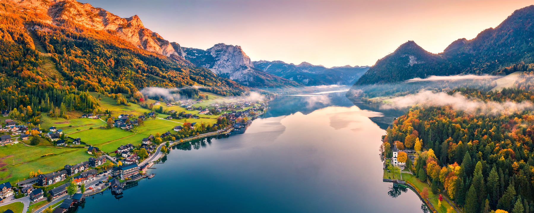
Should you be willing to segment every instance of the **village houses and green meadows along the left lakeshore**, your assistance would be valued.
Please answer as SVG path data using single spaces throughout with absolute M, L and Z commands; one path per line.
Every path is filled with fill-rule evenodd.
M 240 134 L 241 129 L 246 129 L 267 108 L 265 102 L 245 100 L 181 100 L 164 102 L 164 106 L 162 101 L 148 102 L 151 103 L 147 104 L 147 110 L 141 105 L 135 110 L 106 109 L 109 112 L 107 114 L 81 114 L 80 117 L 69 120 L 97 122 L 98 126 L 86 125 L 86 129 L 58 125 L 57 122 L 45 128 L 42 128 L 46 125 L 44 123 L 20 124 L 20 121 L 11 118 L 10 111 L 2 111 L 2 117 L 9 118 L 4 118 L 3 122 L 0 120 L 0 151 L 31 148 L 53 151 L 55 148 L 66 150 L 65 154 L 76 152 L 76 157 L 59 158 L 62 153 L 53 151 L 37 160 L 62 159 L 65 163 L 61 169 L 50 171 L 46 168 L 28 168 L 29 176 L 22 174 L 22 179 L 13 181 L 11 178 L 11 181 L 6 181 L 2 178 L 0 206 L 2 203 L 22 201 L 28 212 L 40 212 L 62 200 L 61 204 L 50 211 L 67 212 L 84 202 L 87 195 L 106 189 L 121 194 L 127 183 L 154 177 L 155 174 L 149 173 L 149 169 L 169 153 L 170 146 L 205 136 Z M 112 116 L 115 113 L 120 114 Z M 155 131 L 152 131 L 154 128 Z M 116 134 L 117 138 L 102 139 L 100 132 Z M 115 148 L 111 148 L 111 145 Z M 81 149 L 84 150 L 83 154 Z M 13 152 L 15 150 L 10 153 Z M 83 160 L 82 156 L 88 157 Z M 9 168 L 10 164 L 6 164 L 4 166 Z M 20 177 L 21 174 L 17 175 Z M 69 190 L 70 185 L 75 185 L 74 192 Z

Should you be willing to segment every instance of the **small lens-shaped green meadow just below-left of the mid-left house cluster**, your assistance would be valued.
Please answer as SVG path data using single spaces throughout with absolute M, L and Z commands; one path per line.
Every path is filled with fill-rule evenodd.
M 111 141 L 119 140 L 123 137 L 128 137 L 130 135 L 133 135 L 133 133 L 126 132 L 121 128 L 95 128 L 69 134 L 68 136 L 73 138 L 79 137 L 81 138 L 82 142 L 100 148 L 101 145 Z

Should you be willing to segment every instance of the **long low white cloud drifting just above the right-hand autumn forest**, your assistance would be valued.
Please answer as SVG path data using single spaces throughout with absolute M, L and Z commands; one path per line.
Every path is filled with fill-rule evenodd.
M 450 105 L 454 110 L 462 110 L 467 113 L 481 113 L 481 114 L 509 114 L 520 112 L 528 109 L 534 109 L 532 102 L 495 102 L 482 100 L 468 99 L 460 93 L 449 95 L 444 92 L 435 93 L 432 91 L 421 91 L 417 94 L 396 97 L 388 100 L 390 103 L 381 106 L 381 109 L 392 108 L 407 108 L 415 104 L 430 105 L 430 106 L 444 106 Z

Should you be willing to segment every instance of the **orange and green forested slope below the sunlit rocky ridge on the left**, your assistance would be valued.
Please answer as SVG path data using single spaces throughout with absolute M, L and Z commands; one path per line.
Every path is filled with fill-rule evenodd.
M 0 11 L 0 110 L 30 106 L 44 112 L 64 103 L 68 110 L 92 111 L 97 102 L 87 91 L 135 94 L 147 86 L 198 85 L 239 95 L 245 89 L 176 55 L 133 46 L 112 31 L 62 18 L 52 22 L 13 1 L 0 3 Z

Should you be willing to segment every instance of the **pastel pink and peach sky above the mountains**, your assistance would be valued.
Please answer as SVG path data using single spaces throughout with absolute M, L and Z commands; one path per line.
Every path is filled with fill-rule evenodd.
M 408 40 L 443 52 L 496 27 L 532 1 L 122 1 L 78 0 L 128 18 L 170 42 L 207 49 L 239 45 L 253 61 L 325 67 L 373 65 Z

